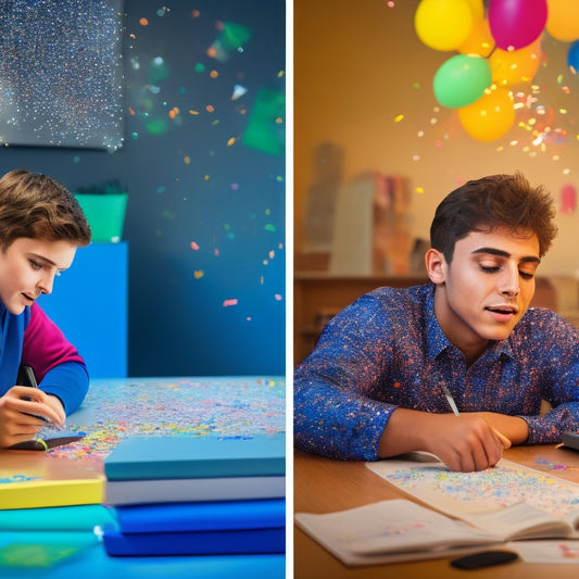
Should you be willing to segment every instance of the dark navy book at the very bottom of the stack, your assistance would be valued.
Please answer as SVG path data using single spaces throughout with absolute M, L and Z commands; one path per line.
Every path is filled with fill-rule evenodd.
M 122 533 L 108 526 L 103 541 L 110 556 L 284 553 L 286 529 Z

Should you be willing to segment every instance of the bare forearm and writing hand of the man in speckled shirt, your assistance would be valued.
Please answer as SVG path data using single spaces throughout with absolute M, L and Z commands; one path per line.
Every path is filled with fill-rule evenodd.
M 430 452 L 451 470 L 469 473 L 494 466 L 503 444 L 481 415 L 397 408 L 382 432 L 378 454 L 386 458 L 413 451 Z

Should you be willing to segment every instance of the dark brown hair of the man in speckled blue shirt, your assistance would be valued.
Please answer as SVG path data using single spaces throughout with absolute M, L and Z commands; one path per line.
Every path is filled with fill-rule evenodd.
M 437 207 L 430 226 L 430 246 L 451 263 L 456 241 L 471 231 L 506 227 L 515 235 L 534 234 L 542 257 L 557 235 L 555 207 L 542 186 L 531 187 L 525 176 L 490 175 L 467 181 Z

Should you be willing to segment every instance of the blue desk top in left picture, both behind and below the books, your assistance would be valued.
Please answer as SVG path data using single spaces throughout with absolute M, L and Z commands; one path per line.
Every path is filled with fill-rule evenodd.
M 79 468 L 102 471 L 104 457 L 130 436 L 282 432 L 285 389 L 285 379 L 279 376 L 92 380 L 85 403 L 67 419 L 67 428 L 86 431 L 86 438 L 48 451 L 41 457 L 39 453 L 30 454 L 35 461 L 50 461 L 52 466 L 53 462 L 66 458 L 67 467 L 77 461 Z M 59 552 L 60 557 L 55 555 Z M 35 557 L 34 566 L 14 565 L 18 559 L 29 563 Z M 285 566 L 284 555 L 109 557 L 92 532 L 2 532 L 0 512 L 2 579 L 235 576 L 276 579 L 285 577 Z

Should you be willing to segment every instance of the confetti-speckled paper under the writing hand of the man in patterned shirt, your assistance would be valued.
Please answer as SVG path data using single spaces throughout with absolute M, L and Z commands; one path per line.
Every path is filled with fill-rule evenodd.
M 454 473 L 441 462 L 379 461 L 367 466 L 394 487 L 457 516 L 524 501 L 557 516 L 579 509 L 579 484 L 504 458 L 476 473 Z

